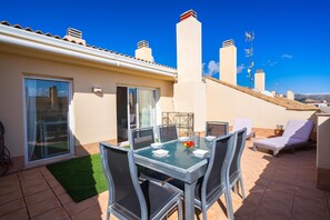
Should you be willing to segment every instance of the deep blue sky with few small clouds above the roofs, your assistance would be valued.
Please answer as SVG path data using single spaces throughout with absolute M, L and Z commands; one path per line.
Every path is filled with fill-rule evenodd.
M 1 0 L 0 20 L 60 37 L 76 28 L 88 44 L 130 56 L 144 39 L 156 62 L 176 68 L 176 23 L 189 9 L 202 23 L 204 74 L 219 74 L 219 48 L 233 39 L 238 84 L 248 87 L 244 31 L 253 31 L 253 72 L 264 70 L 267 90 L 330 93 L 329 0 Z

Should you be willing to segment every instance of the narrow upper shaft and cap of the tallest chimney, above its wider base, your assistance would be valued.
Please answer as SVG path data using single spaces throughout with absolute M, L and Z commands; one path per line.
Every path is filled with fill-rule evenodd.
M 180 16 L 177 23 L 178 82 L 202 79 L 201 23 L 193 10 Z

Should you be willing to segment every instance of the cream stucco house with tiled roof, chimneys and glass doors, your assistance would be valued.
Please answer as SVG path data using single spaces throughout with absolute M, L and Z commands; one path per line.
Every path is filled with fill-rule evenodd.
M 233 41 L 220 49 L 224 81 L 202 78 L 201 28 L 194 11 L 181 14 L 173 69 L 153 62 L 147 41 L 133 58 L 89 46 L 74 29 L 60 38 L 1 22 L 0 120 L 14 169 L 127 141 L 129 129 L 160 124 L 164 111 L 193 112 L 194 131 L 207 120 L 251 118 L 258 131 L 316 120 L 314 107 L 236 86 Z

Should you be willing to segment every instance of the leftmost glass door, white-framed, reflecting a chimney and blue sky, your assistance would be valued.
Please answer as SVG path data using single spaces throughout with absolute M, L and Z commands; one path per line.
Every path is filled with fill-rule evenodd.
M 70 153 L 69 81 L 26 78 L 28 161 Z

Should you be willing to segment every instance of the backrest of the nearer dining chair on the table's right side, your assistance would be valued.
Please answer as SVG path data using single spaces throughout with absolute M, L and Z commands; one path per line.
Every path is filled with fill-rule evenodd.
M 219 199 L 223 187 L 229 184 L 229 166 L 231 164 L 237 132 L 216 139 L 212 152 L 203 178 L 201 199 L 206 204 Z

